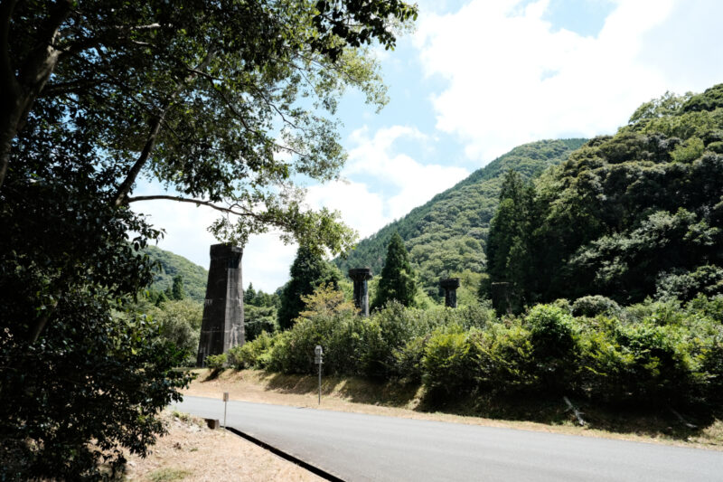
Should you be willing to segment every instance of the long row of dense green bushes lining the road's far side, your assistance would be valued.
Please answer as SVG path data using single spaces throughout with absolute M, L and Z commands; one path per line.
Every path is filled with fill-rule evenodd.
M 311 305 L 292 329 L 235 349 L 230 364 L 312 374 L 314 347 L 323 345 L 324 373 L 422 382 L 433 402 L 463 394 L 575 394 L 648 406 L 722 398 L 723 297 L 631 307 L 588 297 L 502 319 L 488 307 L 390 303 L 364 318 L 338 304 Z

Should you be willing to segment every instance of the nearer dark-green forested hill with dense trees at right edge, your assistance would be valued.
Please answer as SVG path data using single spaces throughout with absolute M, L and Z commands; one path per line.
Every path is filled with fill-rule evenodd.
M 487 254 L 513 308 L 723 293 L 723 84 L 646 102 L 534 186 L 506 177 Z

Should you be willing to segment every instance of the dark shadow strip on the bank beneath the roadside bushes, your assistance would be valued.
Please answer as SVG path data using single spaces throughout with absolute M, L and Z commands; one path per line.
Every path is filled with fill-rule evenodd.
M 281 393 L 314 394 L 318 378 L 311 375 L 265 373 L 269 390 Z M 465 417 L 503 421 L 533 421 L 548 425 L 577 425 L 577 417 L 562 396 L 518 397 L 447 396 L 446 402 L 431 400 L 417 383 L 375 382 L 362 378 L 326 376 L 322 394 L 348 402 L 443 412 Z M 438 399 L 439 397 L 437 397 Z M 452 400 L 452 402 L 450 402 Z M 662 437 L 723 446 L 723 410 L 706 407 L 681 408 L 662 405 L 655 408 L 609 406 L 570 397 L 586 427 L 619 434 Z

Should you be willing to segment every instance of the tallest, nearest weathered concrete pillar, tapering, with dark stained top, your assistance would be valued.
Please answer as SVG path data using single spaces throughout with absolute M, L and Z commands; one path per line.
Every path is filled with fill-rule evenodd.
M 242 255 L 243 250 L 238 246 L 211 246 L 211 268 L 196 357 L 199 366 L 205 365 L 210 354 L 224 354 L 232 346 L 243 345 Z

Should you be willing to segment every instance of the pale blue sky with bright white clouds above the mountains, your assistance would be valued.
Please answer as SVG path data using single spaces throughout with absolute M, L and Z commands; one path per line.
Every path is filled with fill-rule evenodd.
M 666 91 L 723 82 L 719 0 L 419 2 L 416 29 L 375 50 L 390 103 L 356 91 L 339 117 L 349 159 L 340 181 L 310 184 L 306 203 L 338 210 L 363 239 L 514 146 L 612 134 Z M 136 194 L 159 194 L 139 184 Z M 205 268 L 210 208 L 135 203 L 165 230 L 158 246 Z M 244 249 L 244 285 L 274 291 L 296 246 L 273 233 Z

